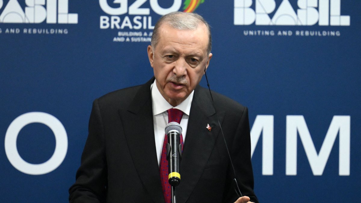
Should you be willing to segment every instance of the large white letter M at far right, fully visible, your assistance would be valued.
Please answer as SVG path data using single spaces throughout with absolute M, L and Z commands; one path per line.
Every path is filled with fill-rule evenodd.
M 303 116 L 286 117 L 286 175 L 297 174 L 297 130 L 313 175 L 321 176 L 339 132 L 339 175 L 350 175 L 350 116 L 334 116 L 319 154 Z

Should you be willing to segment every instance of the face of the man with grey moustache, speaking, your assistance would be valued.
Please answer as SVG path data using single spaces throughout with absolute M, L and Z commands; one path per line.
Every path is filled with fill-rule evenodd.
M 161 95 L 172 106 L 183 102 L 200 82 L 212 53 L 207 55 L 208 30 L 178 30 L 168 25 L 159 28 L 155 48 L 148 46 L 149 62 Z

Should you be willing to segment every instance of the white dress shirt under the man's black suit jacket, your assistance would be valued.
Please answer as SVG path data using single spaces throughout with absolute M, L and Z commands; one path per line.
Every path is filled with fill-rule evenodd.
M 189 118 L 189 112 L 191 110 L 191 103 L 193 100 L 194 90 L 187 97 L 186 100 L 184 100 L 181 104 L 177 105 L 176 107 L 173 107 L 164 99 L 164 97 L 160 94 L 155 82 L 151 85 L 151 92 L 152 92 L 154 135 L 155 135 L 155 141 L 156 141 L 155 144 L 156 144 L 157 158 L 159 165 L 160 157 L 162 154 L 164 137 L 165 137 L 165 127 L 168 125 L 167 110 L 171 108 L 176 108 L 183 111 L 183 117 L 180 125 L 182 127 L 182 136 L 184 143 L 186 140 L 188 118 Z

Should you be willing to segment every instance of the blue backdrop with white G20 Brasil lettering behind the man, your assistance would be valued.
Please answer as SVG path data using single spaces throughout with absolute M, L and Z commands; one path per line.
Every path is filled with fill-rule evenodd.
M 92 101 L 151 78 L 153 26 L 174 10 L 209 22 L 210 86 L 249 108 L 260 202 L 357 202 L 360 7 L 349 0 L 0 0 L 0 202 L 67 201 Z

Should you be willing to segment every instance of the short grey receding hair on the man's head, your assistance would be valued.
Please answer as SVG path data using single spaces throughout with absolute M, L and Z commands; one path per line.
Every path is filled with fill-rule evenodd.
M 159 41 L 159 28 L 163 24 L 169 25 L 178 30 L 196 30 L 201 23 L 203 23 L 208 30 L 207 54 L 209 54 L 212 49 L 212 35 L 210 34 L 210 26 L 202 16 L 196 13 L 176 11 L 162 16 L 154 26 L 151 46 L 153 48 L 157 46 Z

